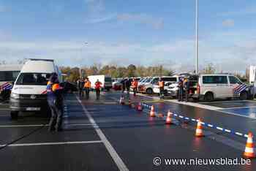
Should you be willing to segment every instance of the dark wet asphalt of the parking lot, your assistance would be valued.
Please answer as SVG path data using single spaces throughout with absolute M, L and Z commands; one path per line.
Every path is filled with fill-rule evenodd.
M 116 104 L 119 96 L 106 93 L 96 102 L 94 96 L 79 100 L 69 94 L 64 131 L 58 133 L 47 131 L 48 118 L 42 115 L 23 114 L 11 121 L 10 111 L 0 105 L 1 170 L 255 170 L 255 160 L 251 165 L 165 165 L 169 158 L 240 159 L 243 151 L 208 136 L 197 138 L 190 125 L 177 121 L 167 126 L 162 118 L 149 118 L 147 110 Z M 141 100 L 149 103 L 151 98 L 136 96 L 134 102 Z M 157 110 L 171 108 L 230 127 L 226 117 L 242 123 L 249 119 L 183 104 L 155 104 Z M 153 163 L 157 156 L 162 159 L 159 166 Z

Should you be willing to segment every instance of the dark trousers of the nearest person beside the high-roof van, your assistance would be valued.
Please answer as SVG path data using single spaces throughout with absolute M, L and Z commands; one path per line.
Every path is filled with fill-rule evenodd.
M 59 129 L 61 129 L 61 125 L 62 125 L 63 110 L 61 109 L 61 107 L 57 107 L 52 102 L 48 102 L 48 104 L 51 111 L 49 131 L 53 130 L 54 128 L 56 129 L 56 131 L 58 131 Z

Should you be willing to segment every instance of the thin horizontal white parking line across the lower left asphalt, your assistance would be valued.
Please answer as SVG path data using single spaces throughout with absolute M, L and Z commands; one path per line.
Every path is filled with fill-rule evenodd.
M 102 143 L 102 141 L 69 141 L 69 142 L 42 142 L 42 143 L 23 143 L 23 144 L 10 144 L 10 145 L 0 145 L 0 147 L 20 147 L 20 146 L 36 146 L 36 145 L 69 145 L 69 144 L 92 144 L 92 143 Z

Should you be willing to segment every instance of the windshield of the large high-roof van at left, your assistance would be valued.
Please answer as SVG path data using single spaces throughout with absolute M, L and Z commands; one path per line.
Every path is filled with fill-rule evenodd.
M 46 73 L 20 73 L 16 85 L 47 86 L 49 78 Z

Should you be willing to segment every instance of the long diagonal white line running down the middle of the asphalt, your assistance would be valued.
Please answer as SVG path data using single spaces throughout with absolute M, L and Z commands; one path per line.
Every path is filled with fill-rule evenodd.
M 107 148 L 108 152 L 110 153 L 110 156 L 116 162 L 116 165 L 117 165 L 118 169 L 119 170 L 128 170 L 127 166 L 124 164 L 124 161 L 122 161 L 121 157 L 118 156 L 118 153 L 116 153 L 115 149 L 110 144 L 107 137 L 105 137 L 105 134 L 103 134 L 102 130 L 99 128 L 97 123 L 94 121 L 94 118 L 92 118 L 91 114 L 88 112 L 88 110 L 86 110 L 86 107 L 83 106 L 83 104 L 80 101 L 80 99 L 78 98 L 78 96 L 75 95 L 75 97 L 78 99 L 78 102 L 83 107 L 84 113 L 87 115 L 87 117 L 89 118 L 89 121 L 94 126 L 95 131 L 99 135 L 100 140 L 102 140 L 102 142 L 104 143 L 105 147 Z

